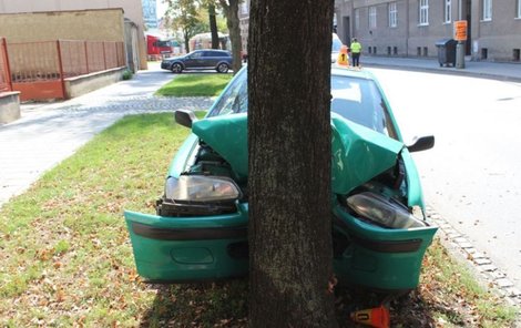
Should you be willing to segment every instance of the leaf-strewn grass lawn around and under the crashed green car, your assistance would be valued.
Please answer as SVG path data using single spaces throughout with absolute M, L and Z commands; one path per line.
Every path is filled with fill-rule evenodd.
M 123 209 L 154 213 L 188 130 L 172 114 L 127 116 L 0 209 L 0 326 L 245 327 L 247 279 L 146 285 L 136 275 Z M 421 285 L 390 304 L 392 327 L 510 327 L 512 308 L 480 288 L 439 243 Z M 348 314 L 377 295 L 337 290 Z M 432 326 L 427 326 L 432 324 Z

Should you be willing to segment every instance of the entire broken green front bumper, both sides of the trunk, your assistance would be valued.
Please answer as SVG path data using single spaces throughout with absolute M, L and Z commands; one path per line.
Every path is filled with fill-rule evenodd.
M 190 283 L 248 274 L 247 204 L 226 215 L 162 217 L 125 212 L 140 276 L 151 283 Z M 381 290 L 416 288 L 437 227 L 389 229 L 334 211 L 335 274 L 341 285 Z M 336 237 L 335 237 L 336 236 Z M 337 245 L 338 246 L 338 245 Z

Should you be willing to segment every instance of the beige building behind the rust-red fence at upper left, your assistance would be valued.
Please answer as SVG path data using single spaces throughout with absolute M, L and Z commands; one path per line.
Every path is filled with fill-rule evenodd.
M 121 27 L 124 32 L 121 32 L 120 28 L 116 30 L 108 28 L 101 21 L 101 16 L 105 12 L 105 9 L 121 10 L 123 17 Z M 93 13 L 93 19 L 85 19 L 84 16 L 90 14 L 89 10 L 98 10 Z M 60 12 L 68 13 L 60 16 Z M 68 21 L 68 17 L 74 17 L 73 12 L 76 12 L 78 19 Z M 141 0 L 0 0 L 0 24 L 11 24 L 12 22 L 8 20 L 18 17 L 12 14 L 27 18 L 31 13 L 45 13 L 48 23 L 37 24 L 39 21 L 27 19 L 21 21 L 20 25 L 12 30 L 9 35 L 6 35 L 7 30 L 0 29 L 0 34 L 2 34 L 0 37 L 8 38 L 8 42 L 57 39 L 125 41 L 129 66 L 134 71 L 147 68 Z M 60 21 L 60 25 L 55 27 L 58 21 Z M 42 40 L 42 38 L 45 40 Z

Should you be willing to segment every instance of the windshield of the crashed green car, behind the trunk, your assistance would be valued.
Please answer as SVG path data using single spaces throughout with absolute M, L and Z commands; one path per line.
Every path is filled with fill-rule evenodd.
M 244 113 L 247 110 L 247 73 L 246 70 L 241 70 L 208 117 Z M 331 112 L 385 135 L 397 137 L 386 102 L 372 80 L 331 75 Z

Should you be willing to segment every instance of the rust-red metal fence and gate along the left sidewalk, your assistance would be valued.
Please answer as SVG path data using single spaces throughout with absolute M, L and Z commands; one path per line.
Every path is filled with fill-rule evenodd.
M 65 79 L 125 66 L 123 42 L 0 41 L 0 92 L 21 100 L 64 99 Z

